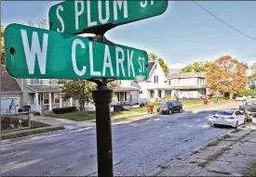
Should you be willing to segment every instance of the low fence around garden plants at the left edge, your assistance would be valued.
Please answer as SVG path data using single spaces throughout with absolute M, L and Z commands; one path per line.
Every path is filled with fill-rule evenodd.
M 31 128 L 30 112 L 1 115 L 1 132 Z

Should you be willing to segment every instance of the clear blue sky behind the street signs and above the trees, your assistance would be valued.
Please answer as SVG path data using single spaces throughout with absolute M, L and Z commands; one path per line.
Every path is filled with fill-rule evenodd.
M 47 19 L 50 6 L 60 1 L 2 1 L 1 24 Z M 256 1 L 197 1 L 212 14 L 256 39 Z M 169 69 L 223 55 L 256 62 L 256 40 L 215 19 L 192 1 L 169 1 L 167 11 L 150 19 L 116 27 L 105 35 L 116 44 L 155 53 Z

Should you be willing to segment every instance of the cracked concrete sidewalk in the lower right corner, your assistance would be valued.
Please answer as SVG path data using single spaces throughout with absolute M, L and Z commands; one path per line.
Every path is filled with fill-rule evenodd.
M 256 162 L 255 125 L 231 130 L 149 176 L 241 176 Z

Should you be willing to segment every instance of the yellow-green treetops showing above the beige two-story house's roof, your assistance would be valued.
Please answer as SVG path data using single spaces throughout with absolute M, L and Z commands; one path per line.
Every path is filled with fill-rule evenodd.
M 187 65 L 181 70 L 181 73 L 184 72 L 205 72 L 209 67 L 209 61 L 207 62 L 194 62 L 193 64 Z

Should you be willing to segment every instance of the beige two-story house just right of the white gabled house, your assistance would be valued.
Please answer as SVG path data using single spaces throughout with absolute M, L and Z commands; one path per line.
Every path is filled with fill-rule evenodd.
M 206 77 L 203 72 L 174 73 L 168 75 L 171 95 L 179 98 L 200 98 L 207 94 Z

